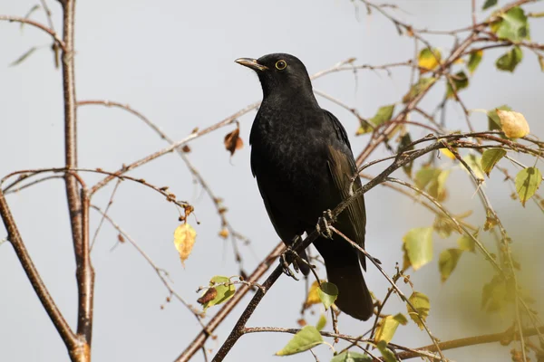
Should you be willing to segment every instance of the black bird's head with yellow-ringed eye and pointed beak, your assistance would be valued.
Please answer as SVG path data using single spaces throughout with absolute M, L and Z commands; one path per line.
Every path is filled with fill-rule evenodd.
M 312 94 L 306 67 L 293 55 L 278 52 L 258 59 L 239 58 L 235 62 L 257 72 L 265 98 L 274 94 Z

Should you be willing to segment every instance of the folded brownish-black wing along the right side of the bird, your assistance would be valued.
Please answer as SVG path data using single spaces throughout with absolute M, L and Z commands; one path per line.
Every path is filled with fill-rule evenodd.
M 338 119 L 335 118 L 330 112 L 326 112 L 327 116 L 333 121 L 341 143 L 344 143 L 347 148 L 337 148 L 333 145 L 328 147 L 328 171 L 333 179 L 335 189 L 338 191 L 341 200 L 345 200 L 350 196 L 351 177 L 355 175 L 357 167 L 355 165 L 355 159 L 351 153 L 349 141 L 347 140 L 347 134 L 344 127 L 340 124 Z M 362 187 L 361 179 L 355 178 L 352 186 L 353 192 L 356 192 Z M 344 219 L 344 222 L 343 220 Z M 345 208 L 345 211 L 340 214 L 338 220 L 338 227 L 343 233 L 351 238 L 355 243 L 364 248 L 364 231 L 366 227 L 366 212 L 364 209 L 364 197 L 361 195 L 349 206 Z M 359 260 L 366 270 L 366 262 L 364 254 L 359 253 Z

